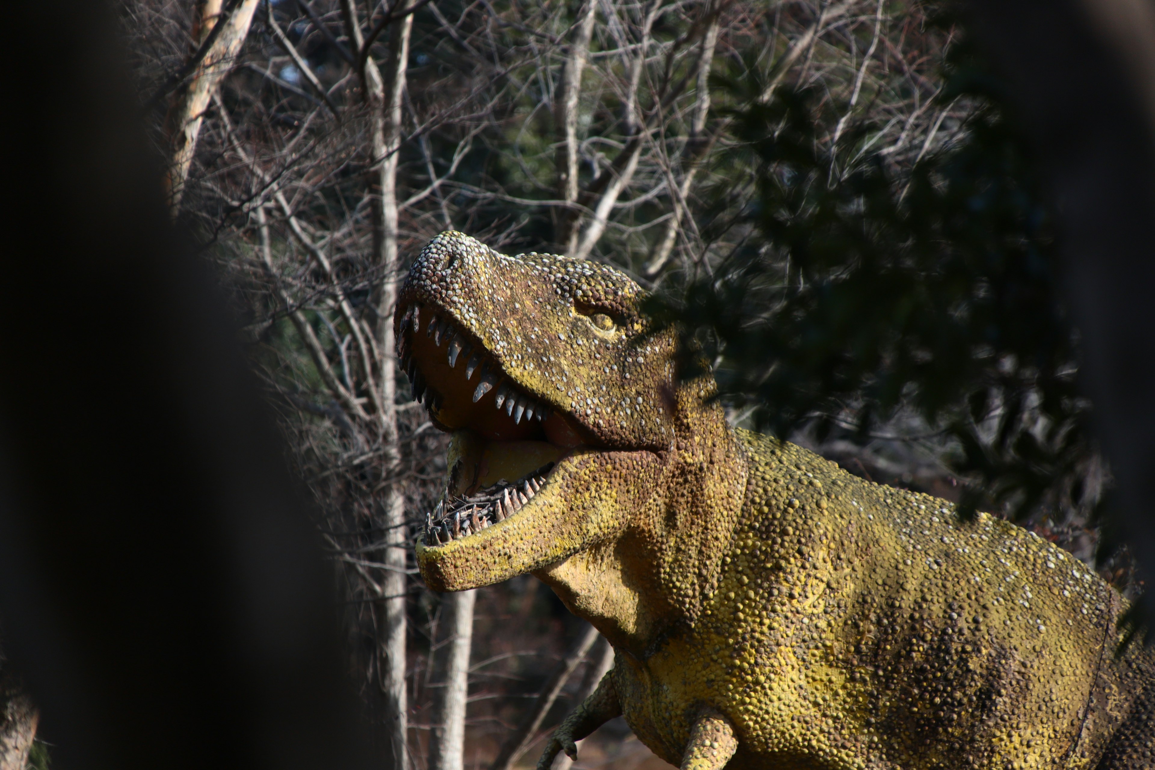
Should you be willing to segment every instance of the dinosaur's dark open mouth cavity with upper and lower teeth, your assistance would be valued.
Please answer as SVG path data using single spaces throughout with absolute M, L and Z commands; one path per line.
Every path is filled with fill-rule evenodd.
M 590 433 L 507 372 L 476 336 L 441 308 L 408 305 L 397 353 L 413 398 L 453 434 L 445 494 L 426 515 L 424 543 L 478 534 L 550 494 L 553 470 Z

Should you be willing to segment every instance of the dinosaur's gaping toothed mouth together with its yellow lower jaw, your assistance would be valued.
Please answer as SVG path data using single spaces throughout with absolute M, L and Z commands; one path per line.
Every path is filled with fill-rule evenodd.
M 410 301 L 397 317 L 413 395 L 453 433 L 444 495 L 417 546 L 431 588 L 464 590 L 534 571 L 620 529 L 620 489 L 605 479 L 634 476 L 654 453 L 599 446 L 445 308 Z

